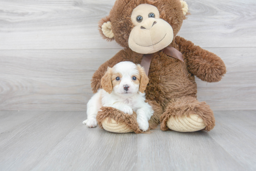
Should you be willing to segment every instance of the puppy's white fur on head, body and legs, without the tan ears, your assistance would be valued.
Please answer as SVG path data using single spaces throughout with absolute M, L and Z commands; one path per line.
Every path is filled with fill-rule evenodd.
M 145 93 L 139 91 L 139 81 L 132 80 L 133 76 L 139 76 L 137 65 L 132 62 L 120 62 L 116 64 L 112 71 L 119 73 L 120 80 L 116 86 L 113 87 L 112 92 L 109 94 L 103 89 L 92 96 L 87 103 L 87 118 L 83 123 L 87 127 L 96 127 L 96 115 L 102 106 L 114 107 L 131 115 L 132 110 L 137 112 L 137 122 L 142 131 L 149 128 L 148 120 L 153 115 L 152 107 L 145 102 Z M 115 78 L 112 80 L 116 81 Z M 113 81 L 112 81 L 113 83 Z M 124 90 L 124 86 L 128 85 L 128 91 Z M 127 93 L 126 93 L 127 92 Z

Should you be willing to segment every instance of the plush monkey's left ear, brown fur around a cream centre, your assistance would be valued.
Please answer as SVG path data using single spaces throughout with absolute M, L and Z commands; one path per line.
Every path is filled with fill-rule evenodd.
M 109 16 L 106 16 L 99 21 L 100 34 L 103 39 L 107 39 L 107 41 L 114 40 L 114 33 L 112 32 L 111 26 L 112 25 Z

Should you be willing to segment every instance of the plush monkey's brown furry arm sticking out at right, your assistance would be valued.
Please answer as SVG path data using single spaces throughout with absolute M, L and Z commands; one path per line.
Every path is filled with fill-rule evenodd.
M 203 81 L 218 82 L 226 73 L 226 66 L 219 56 L 179 36 L 176 37 L 175 42 L 191 74 Z

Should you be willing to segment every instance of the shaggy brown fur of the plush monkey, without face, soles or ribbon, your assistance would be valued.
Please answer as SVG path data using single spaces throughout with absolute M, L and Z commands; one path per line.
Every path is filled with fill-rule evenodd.
M 161 115 L 160 128 L 165 131 L 168 130 L 166 122 L 171 115 L 189 116 L 190 114 L 197 114 L 202 117 L 206 124 L 206 131 L 213 129 L 215 126 L 213 111 L 205 102 L 196 100 L 197 87 L 194 76 L 203 81 L 218 82 L 226 73 L 226 67 L 220 57 L 214 53 L 194 45 L 191 41 L 176 36 L 184 19 L 179 0 L 118 0 L 115 2 L 110 15 L 100 21 L 100 27 L 104 22 L 111 21 L 112 31 L 115 36 L 112 39 L 107 39 L 114 39 L 125 49 L 102 64 L 94 73 L 91 83 L 93 92 L 95 93 L 101 88 L 100 80 L 107 67 L 113 67 L 121 61 L 131 61 L 135 64 L 141 63 L 143 54 L 136 53 L 128 47 L 128 38 L 134 26 L 130 19 L 132 10 L 142 3 L 156 6 L 160 17 L 171 25 L 174 30 L 174 40 L 169 46 L 179 50 L 184 59 L 184 62 L 181 62 L 166 55 L 162 50 L 154 53 L 152 56 L 148 76 L 149 84 L 145 90 L 146 99 L 150 101 L 150 105 L 155 110 L 155 114 L 149 121 L 150 129 L 157 126 L 159 115 Z M 104 115 L 112 114 L 114 117 L 118 113 L 120 117 L 114 117 L 115 119 L 123 118 L 123 120 L 117 120 L 129 122 L 131 128 L 138 127 L 136 117 L 133 117 L 132 121 L 126 121 L 126 118 L 121 116 L 126 116 L 126 114 L 116 110 L 113 108 L 104 109 L 103 107 L 102 112 L 97 116 L 99 125 L 101 126 L 101 118 L 105 117 Z M 138 129 L 135 129 L 135 132 L 140 133 Z

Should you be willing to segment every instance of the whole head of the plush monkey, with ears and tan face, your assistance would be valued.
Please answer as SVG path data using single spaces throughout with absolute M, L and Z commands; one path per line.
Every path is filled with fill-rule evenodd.
M 174 40 L 187 12 L 182 0 L 117 0 L 99 23 L 100 34 L 137 53 L 155 53 Z

